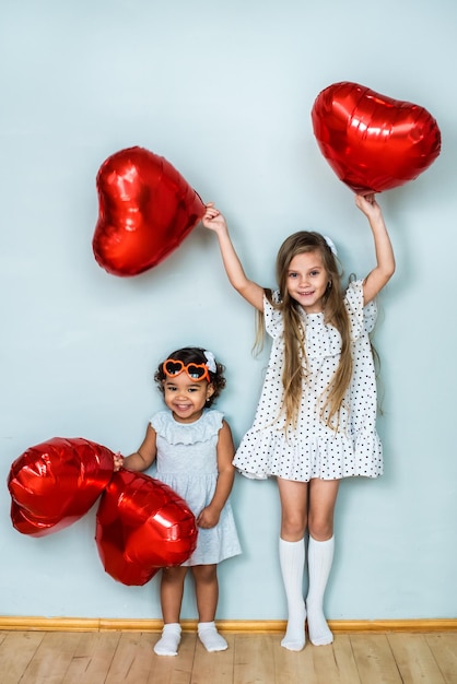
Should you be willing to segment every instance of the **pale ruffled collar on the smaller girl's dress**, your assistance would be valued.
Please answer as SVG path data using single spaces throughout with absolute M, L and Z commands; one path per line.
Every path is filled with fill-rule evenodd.
M 168 444 L 196 444 L 208 441 L 222 427 L 224 414 L 221 411 L 204 410 L 195 423 L 177 423 L 171 411 L 159 411 L 151 418 L 151 426 Z

